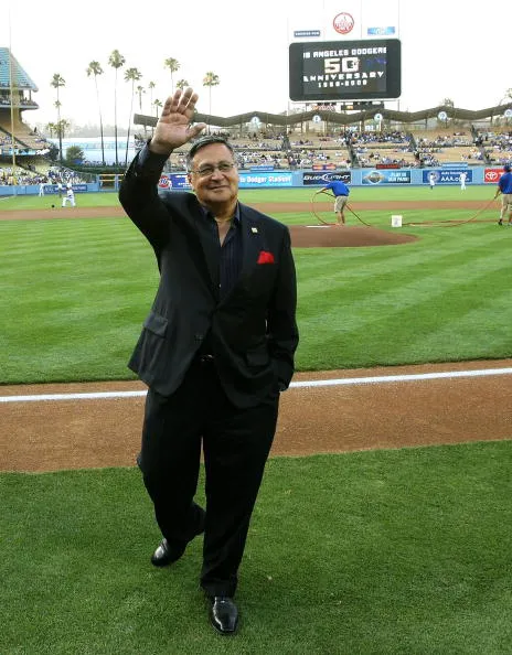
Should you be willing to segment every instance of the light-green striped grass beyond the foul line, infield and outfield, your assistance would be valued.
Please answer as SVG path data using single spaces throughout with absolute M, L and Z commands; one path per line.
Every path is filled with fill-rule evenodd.
M 430 200 L 435 193 L 441 200 L 471 196 L 484 207 L 493 195 L 489 187 L 467 191 L 356 189 L 352 202 Z M 292 202 L 311 193 L 257 190 L 242 196 L 248 203 Z M 126 362 L 152 302 L 157 267 L 131 223 L 108 217 L 108 207 L 118 203 L 115 194 L 79 195 L 78 203 L 96 198 L 105 219 L 0 222 L 2 383 L 130 378 Z M 0 211 L 47 202 L 13 198 L 0 202 Z M 392 213 L 401 212 L 404 223 L 420 223 L 468 221 L 477 211 Z M 396 229 L 388 210 L 361 214 L 372 226 Z M 419 237 L 413 244 L 297 249 L 298 369 L 510 356 L 512 229 L 500 228 L 495 216 L 492 205 L 479 222 L 459 227 L 399 228 Z M 316 223 L 309 211 L 276 217 Z

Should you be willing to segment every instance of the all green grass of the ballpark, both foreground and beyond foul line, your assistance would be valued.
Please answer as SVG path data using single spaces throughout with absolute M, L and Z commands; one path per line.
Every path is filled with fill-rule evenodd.
M 241 195 L 309 202 L 311 192 Z M 492 195 L 356 189 L 352 202 L 463 197 L 479 208 Z M 0 221 L 2 384 L 130 378 L 154 259 L 128 219 L 109 217 L 114 194 L 77 201 L 102 204 L 105 218 Z M 0 200 L 0 212 L 47 204 Z M 467 221 L 476 211 L 361 216 L 393 229 L 391 213 Z M 413 244 L 297 249 L 298 367 L 510 357 L 512 228 L 497 215 L 493 205 L 484 222 L 401 228 L 420 237 Z M 136 469 L 3 473 L 0 653 L 509 654 L 511 443 L 270 460 L 233 640 L 207 625 L 200 539 L 169 570 L 149 563 L 159 535 Z

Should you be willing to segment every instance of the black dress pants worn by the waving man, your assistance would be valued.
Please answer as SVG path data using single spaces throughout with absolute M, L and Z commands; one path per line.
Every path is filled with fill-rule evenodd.
M 162 535 L 183 545 L 204 526 L 201 587 L 233 597 L 254 504 L 276 431 L 279 393 L 239 409 L 214 362 L 195 359 L 177 391 L 149 389 L 139 465 Z M 205 512 L 194 503 L 205 466 Z

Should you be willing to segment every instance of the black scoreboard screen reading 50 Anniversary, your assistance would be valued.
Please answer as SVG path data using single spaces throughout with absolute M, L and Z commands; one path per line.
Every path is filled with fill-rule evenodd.
M 291 43 L 291 100 L 369 100 L 402 93 L 398 39 Z

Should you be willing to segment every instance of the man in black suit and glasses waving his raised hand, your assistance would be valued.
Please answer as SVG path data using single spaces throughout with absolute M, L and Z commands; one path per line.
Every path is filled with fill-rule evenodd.
M 224 139 L 192 143 L 194 193 L 159 194 L 171 152 L 205 127 L 191 124 L 196 100 L 191 88 L 167 99 L 119 191 L 160 271 L 129 366 L 148 385 L 138 462 L 163 536 L 151 561 L 172 563 L 204 533 L 210 621 L 233 634 L 238 566 L 279 394 L 294 374 L 296 273 L 288 228 L 238 202 L 234 152 Z M 205 509 L 194 503 L 201 447 Z

